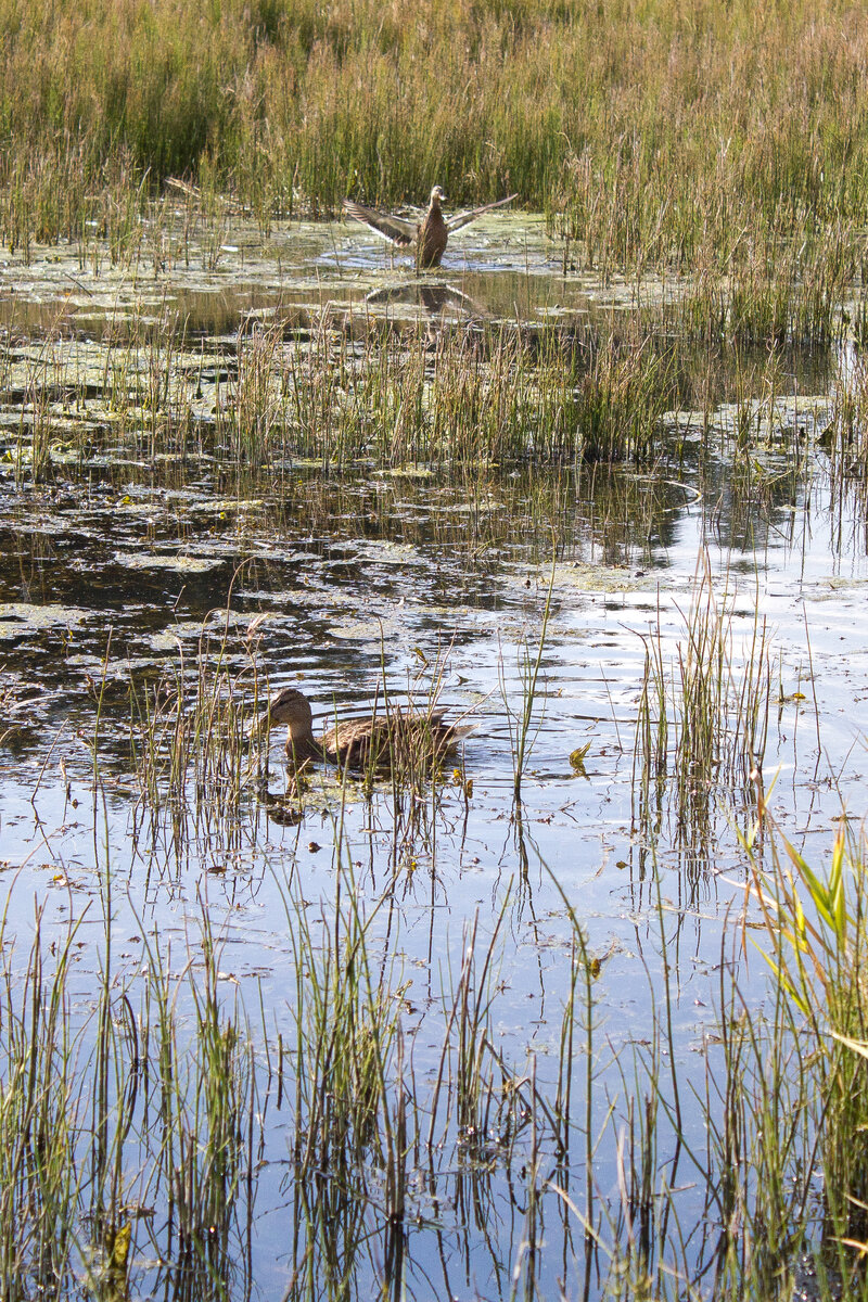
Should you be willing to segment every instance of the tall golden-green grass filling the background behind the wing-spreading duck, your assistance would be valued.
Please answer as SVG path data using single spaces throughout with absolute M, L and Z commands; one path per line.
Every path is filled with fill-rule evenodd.
M 0 51 L 13 245 L 133 234 L 142 185 L 186 174 L 263 224 L 517 190 L 604 271 L 861 256 L 868 33 L 842 0 L 4 0 Z

